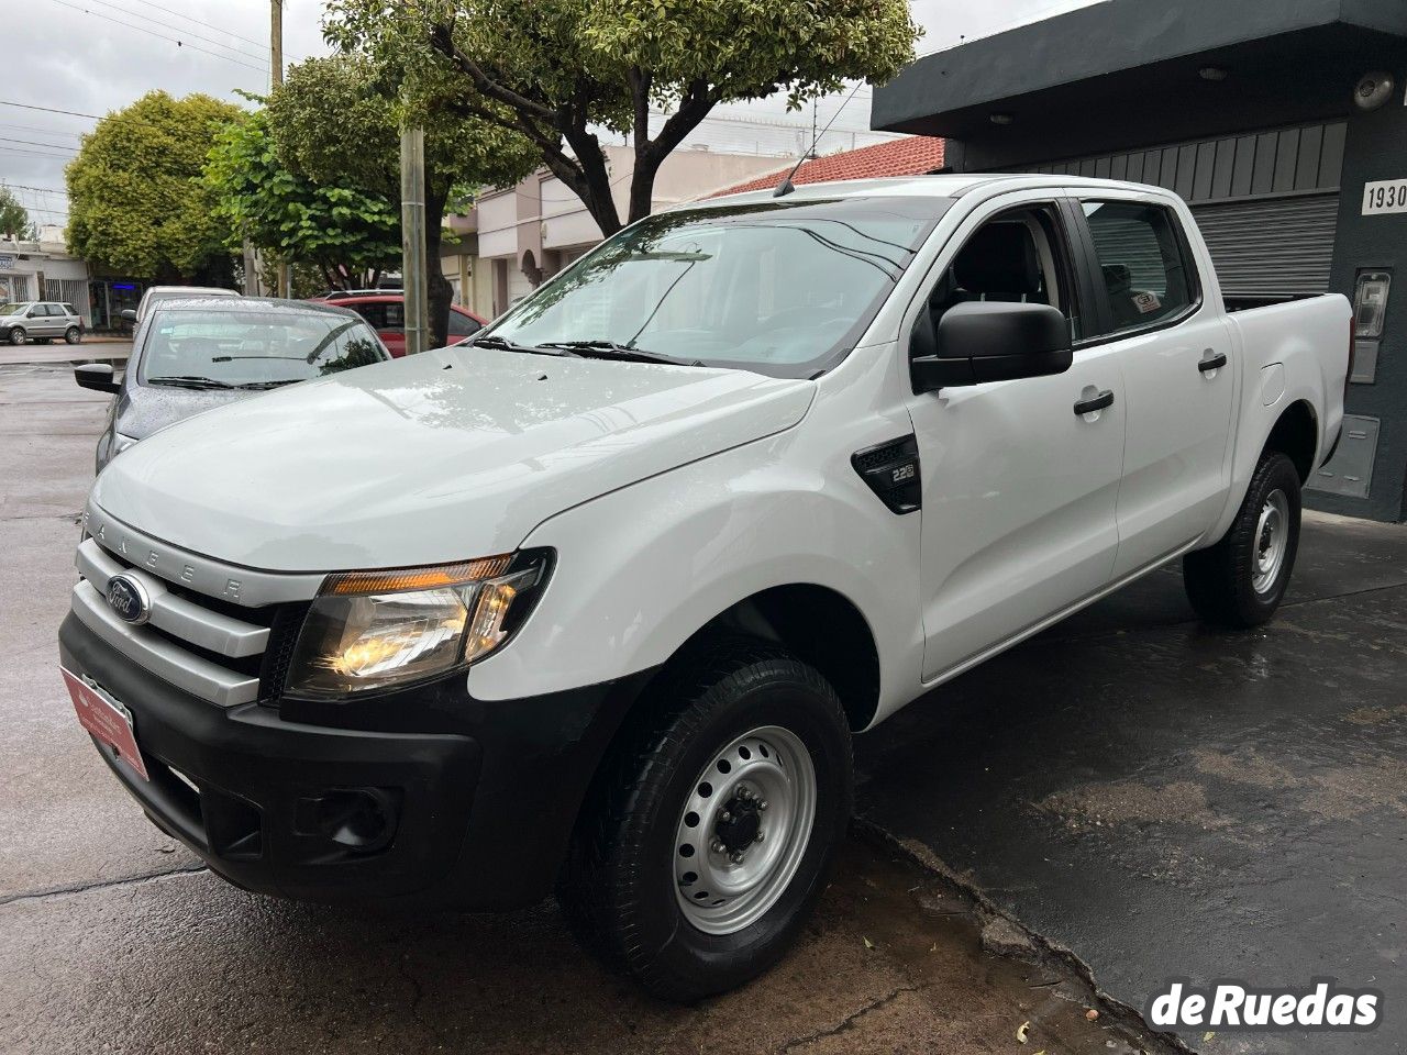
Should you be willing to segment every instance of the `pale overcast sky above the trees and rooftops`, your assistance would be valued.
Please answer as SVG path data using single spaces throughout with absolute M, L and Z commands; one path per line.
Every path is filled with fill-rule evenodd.
M 269 84 L 269 0 L 0 0 L 15 39 L 44 27 L 44 44 L 7 49 L 0 87 L 0 183 L 11 186 L 38 222 L 66 219 L 63 165 L 77 149 L 91 117 L 24 108 L 46 107 L 101 115 L 152 89 L 173 96 L 207 91 L 263 91 Z M 706 0 L 705 0 L 706 1 Z M 958 44 L 1090 0 L 913 0 L 924 27 L 919 52 Z M 321 0 L 284 0 L 284 56 L 293 62 L 326 51 Z M 870 127 L 870 89 L 861 87 L 834 128 L 862 142 Z M 817 106 L 825 124 L 840 106 Z M 778 125 L 792 124 L 795 129 Z M 720 108 L 702 131 L 715 149 L 785 152 L 809 132 L 810 113 L 785 114 L 779 101 Z M 855 136 L 860 136 L 857 139 Z M 836 146 L 844 145 L 836 141 Z M 834 148 L 832 148 L 834 149 Z

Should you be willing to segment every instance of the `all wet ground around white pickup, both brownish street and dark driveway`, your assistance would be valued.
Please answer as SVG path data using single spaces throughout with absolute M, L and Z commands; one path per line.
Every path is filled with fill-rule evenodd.
M 1379 1032 L 1183 1037 L 1213 1055 L 1401 1049 L 1404 528 L 1311 515 L 1248 634 L 1202 630 L 1159 571 L 862 737 L 865 820 L 957 886 L 855 843 L 777 971 L 678 1009 L 550 904 L 267 900 L 141 816 L 53 668 L 104 407 L 0 367 L 0 1051 L 1165 1051 L 1050 950 L 1140 1010 L 1175 975 L 1384 990 Z

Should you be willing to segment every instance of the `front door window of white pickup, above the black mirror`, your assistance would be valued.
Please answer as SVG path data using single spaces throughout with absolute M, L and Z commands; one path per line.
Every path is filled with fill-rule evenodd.
M 1083 331 L 1074 269 L 1054 205 L 1000 212 L 972 234 L 929 294 L 934 331 L 954 305 L 968 301 L 1050 304 Z

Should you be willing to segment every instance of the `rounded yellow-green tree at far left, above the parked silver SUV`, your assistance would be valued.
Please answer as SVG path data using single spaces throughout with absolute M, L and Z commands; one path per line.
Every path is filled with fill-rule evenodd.
M 83 136 L 68 167 L 69 249 L 118 274 L 229 281 L 231 255 L 201 179 L 238 107 L 151 91 Z

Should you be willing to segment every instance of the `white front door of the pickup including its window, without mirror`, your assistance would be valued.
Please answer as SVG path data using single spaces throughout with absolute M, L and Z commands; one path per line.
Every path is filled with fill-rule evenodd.
M 1052 304 L 1076 339 L 1064 374 L 910 399 L 923 471 L 924 681 L 1033 630 L 1113 574 L 1124 385 L 1117 353 L 1085 343 L 1090 287 L 1076 288 L 1068 222 L 1052 201 L 1003 198 L 958 231 L 924 304 L 936 324 L 964 300 Z

